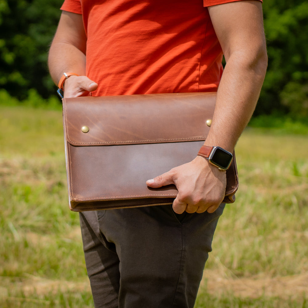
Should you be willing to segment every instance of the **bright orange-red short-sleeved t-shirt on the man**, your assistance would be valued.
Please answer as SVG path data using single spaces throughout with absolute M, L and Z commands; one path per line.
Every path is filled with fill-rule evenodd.
M 222 50 L 205 6 L 234 0 L 65 0 L 83 15 L 94 96 L 216 91 Z

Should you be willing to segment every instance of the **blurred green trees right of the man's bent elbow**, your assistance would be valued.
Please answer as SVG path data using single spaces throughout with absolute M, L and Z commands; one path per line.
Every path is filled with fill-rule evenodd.
M 308 116 L 308 2 L 264 0 L 269 65 L 255 114 Z

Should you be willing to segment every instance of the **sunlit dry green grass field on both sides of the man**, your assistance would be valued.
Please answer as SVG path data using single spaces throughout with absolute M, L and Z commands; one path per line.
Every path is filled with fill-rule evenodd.
M 93 307 L 61 111 L 0 106 L 0 307 Z M 196 308 L 308 307 L 308 136 L 248 128 Z

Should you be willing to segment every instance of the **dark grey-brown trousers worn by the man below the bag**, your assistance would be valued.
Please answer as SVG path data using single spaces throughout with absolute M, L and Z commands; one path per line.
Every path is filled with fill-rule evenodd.
M 95 308 L 193 308 L 214 213 L 176 214 L 171 205 L 80 213 Z

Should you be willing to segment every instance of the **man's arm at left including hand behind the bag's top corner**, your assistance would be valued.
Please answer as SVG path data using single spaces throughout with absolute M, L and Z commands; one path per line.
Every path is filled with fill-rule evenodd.
M 48 67 L 56 85 L 64 72 L 79 75 L 65 81 L 64 97 L 85 96 L 97 88 L 97 83 L 85 76 L 86 43 L 82 15 L 63 11 L 49 50 Z

